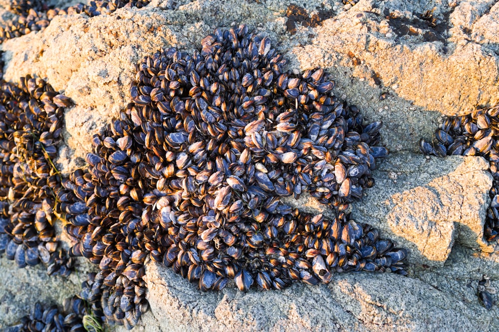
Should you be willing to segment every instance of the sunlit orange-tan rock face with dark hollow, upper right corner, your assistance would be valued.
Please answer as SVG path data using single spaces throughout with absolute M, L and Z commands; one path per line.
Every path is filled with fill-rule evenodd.
M 345 57 L 352 52 L 361 62 L 353 66 L 354 76 L 389 87 L 427 110 L 466 112 L 475 105 L 498 102 L 494 84 L 498 58 L 490 48 L 497 30 L 483 26 L 494 19 L 497 7 L 494 1 L 442 2 L 431 7 L 424 1 L 360 1 L 318 28 L 318 38 L 296 53 L 297 60 L 352 67 L 351 56 Z M 434 28 L 420 20 L 432 9 L 437 18 Z M 475 38 L 480 43 L 470 40 L 470 29 L 482 36 Z M 448 93 L 442 94 L 442 89 Z

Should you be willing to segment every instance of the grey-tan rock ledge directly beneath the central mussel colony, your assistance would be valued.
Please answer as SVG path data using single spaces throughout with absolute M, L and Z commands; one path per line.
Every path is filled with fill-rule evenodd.
M 492 265 L 497 267 L 497 255 L 494 259 Z M 450 268 L 463 274 L 470 269 L 454 263 Z M 390 273 L 335 274 L 328 285 L 294 284 L 283 291 L 241 293 L 228 285 L 218 293 L 203 293 L 171 269 L 149 264 L 147 283 L 151 312 L 162 324 L 162 329 L 152 331 L 387 331 L 395 327 L 397 331 L 493 331 L 494 315 L 499 312 L 497 307 L 488 312 L 476 300 L 461 299 L 444 283 L 438 284 L 439 290 L 433 286 L 435 281 L 427 284 Z M 458 282 L 446 283 L 454 287 Z M 461 285 L 467 288 L 464 282 Z

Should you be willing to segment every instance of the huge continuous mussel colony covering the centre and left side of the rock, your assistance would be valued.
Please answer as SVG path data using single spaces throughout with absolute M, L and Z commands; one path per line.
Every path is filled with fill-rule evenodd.
M 405 250 L 345 214 L 388 154 L 377 146 L 381 122 L 365 124 L 337 100 L 322 69 L 295 75 L 284 65 L 244 25 L 216 29 L 192 55 L 169 48 L 146 57 L 133 103 L 93 137 L 88 167 L 67 178 L 52 160 L 69 100 L 38 79 L 2 81 L 0 250 L 19 267 L 42 261 L 67 275 L 72 259 L 52 228 L 61 217 L 69 254 L 99 268 L 73 302 L 129 329 L 148 309 L 148 259 L 203 291 L 230 281 L 241 291 L 316 285 L 343 271 L 405 275 Z M 305 193 L 336 217 L 280 201 Z M 28 328 L 40 310 L 14 331 L 41 331 Z

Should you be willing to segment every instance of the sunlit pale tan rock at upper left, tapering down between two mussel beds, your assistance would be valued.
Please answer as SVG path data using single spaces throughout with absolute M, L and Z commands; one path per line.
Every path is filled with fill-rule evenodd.
M 135 77 L 135 64 L 142 57 L 170 46 L 193 51 L 201 39 L 212 32 L 207 23 L 199 20 L 200 10 L 204 8 L 187 4 L 183 10 L 174 11 L 168 9 L 168 1 L 159 2 L 154 1 L 146 8 L 122 8 L 111 15 L 92 18 L 56 16 L 44 31 L 2 44 L 4 57 L 9 62 L 5 80 L 17 81 L 20 76 L 37 73 L 46 77 L 54 89 L 64 90 L 76 104 L 65 114 L 66 140 L 70 147 L 66 151 L 71 158 L 62 154 L 68 161 L 62 163 L 63 172 L 78 166 L 77 158 L 91 149 L 89 137 L 100 132 L 131 102 L 130 83 Z M 215 8 L 208 4 L 205 3 L 206 9 L 213 13 Z M 255 12 L 256 4 L 247 6 L 249 8 L 234 5 L 239 8 L 235 14 Z M 215 24 L 217 16 L 205 18 Z

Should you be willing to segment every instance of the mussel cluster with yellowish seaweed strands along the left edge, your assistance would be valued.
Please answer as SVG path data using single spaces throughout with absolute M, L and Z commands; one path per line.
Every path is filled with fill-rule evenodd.
M 69 99 L 43 80 L 0 81 L 0 253 L 19 267 L 68 275 L 72 258 L 55 239 L 60 174 L 52 160 Z

